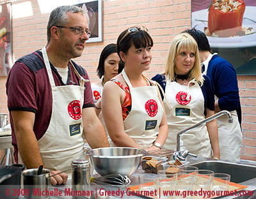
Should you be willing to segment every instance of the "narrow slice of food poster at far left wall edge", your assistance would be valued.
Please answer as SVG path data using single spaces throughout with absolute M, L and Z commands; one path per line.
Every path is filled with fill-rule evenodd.
M 10 3 L 0 5 L 0 76 L 8 75 L 12 64 Z

